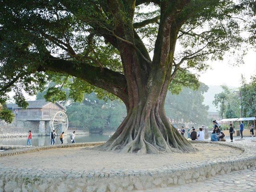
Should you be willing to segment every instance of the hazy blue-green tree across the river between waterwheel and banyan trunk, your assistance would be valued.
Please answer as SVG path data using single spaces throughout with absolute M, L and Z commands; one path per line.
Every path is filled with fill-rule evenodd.
M 91 130 L 115 131 L 126 116 L 125 105 L 119 100 L 100 100 L 95 93 L 86 94 L 82 103 L 67 106 L 71 126 L 86 126 Z

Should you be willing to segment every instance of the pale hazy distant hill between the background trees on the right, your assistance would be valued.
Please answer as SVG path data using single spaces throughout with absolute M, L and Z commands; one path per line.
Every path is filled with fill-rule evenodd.
M 216 107 L 212 104 L 212 101 L 214 100 L 214 95 L 222 92 L 222 88 L 219 85 L 208 85 L 209 90 L 208 92 L 204 93 L 204 104 L 209 106 L 210 112 L 216 112 Z M 231 89 L 234 89 L 235 87 L 228 86 Z

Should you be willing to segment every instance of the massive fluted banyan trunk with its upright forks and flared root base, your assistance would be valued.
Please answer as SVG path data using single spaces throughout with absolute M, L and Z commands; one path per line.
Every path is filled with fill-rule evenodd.
M 118 42 L 127 82 L 128 112 L 114 135 L 99 147 L 101 150 L 138 154 L 196 150 L 170 124 L 164 111 L 179 26 L 172 26 L 173 18 L 167 13 L 162 17 L 152 62 L 146 62 L 131 44 Z M 116 34 L 134 43 L 134 38 L 138 39 L 136 33 L 124 30 L 123 22 L 116 27 Z M 132 22 L 127 26 L 129 24 L 132 28 Z M 136 45 L 146 50 L 138 40 Z M 150 60 L 148 55 L 146 57 Z

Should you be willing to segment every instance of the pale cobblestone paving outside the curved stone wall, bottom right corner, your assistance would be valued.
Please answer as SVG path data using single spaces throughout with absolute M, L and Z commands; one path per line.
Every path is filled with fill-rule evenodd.
M 218 175 L 203 182 L 190 183 L 168 188 L 155 188 L 136 192 L 255 192 L 256 169 L 234 171 Z

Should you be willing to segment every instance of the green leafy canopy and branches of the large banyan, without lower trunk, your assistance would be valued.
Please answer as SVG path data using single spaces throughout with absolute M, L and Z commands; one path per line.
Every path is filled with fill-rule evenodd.
M 174 43 L 181 47 L 170 65 L 173 90 L 180 92 L 177 85 L 182 84 L 195 87 L 191 82 L 198 86 L 187 70 L 205 70 L 208 59 L 222 59 L 226 51 L 234 53 L 245 42 L 240 36 L 242 21 L 235 17 L 245 7 L 232 0 L 4 0 L 0 98 L 5 101 L 13 90 L 16 103 L 26 107 L 22 90 L 34 95 L 54 81 L 47 100 L 65 99 L 61 90 L 65 87 L 75 101 L 81 101 L 84 93 L 111 93 L 127 105 L 123 45 L 130 44 L 139 60 L 146 60 L 147 69 L 143 64 L 141 68 L 147 77 L 152 63 L 160 62 L 159 42 L 168 16 L 178 29 Z

